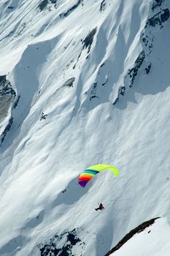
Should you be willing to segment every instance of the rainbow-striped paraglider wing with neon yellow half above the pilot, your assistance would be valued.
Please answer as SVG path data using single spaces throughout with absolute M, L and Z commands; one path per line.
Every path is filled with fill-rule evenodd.
M 90 181 L 90 179 L 93 178 L 93 176 L 95 176 L 97 173 L 105 169 L 112 170 L 115 176 L 119 175 L 119 171 L 117 170 L 117 168 L 112 165 L 93 165 L 88 167 L 80 174 L 78 178 L 78 183 L 80 184 L 80 186 L 85 187 L 88 181 Z

